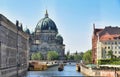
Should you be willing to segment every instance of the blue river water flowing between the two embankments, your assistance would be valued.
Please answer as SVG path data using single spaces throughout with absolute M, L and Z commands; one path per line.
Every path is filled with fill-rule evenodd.
M 51 67 L 46 71 L 30 71 L 26 77 L 62 77 L 62 76 L 83 76 L 76 71 L 75 64 L 67 64 L 63 71 L 58 71 L 58 66 Z

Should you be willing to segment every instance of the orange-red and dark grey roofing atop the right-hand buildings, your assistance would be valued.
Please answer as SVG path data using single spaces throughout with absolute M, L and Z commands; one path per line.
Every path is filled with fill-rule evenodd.
M 105 27 L 104 29 L 94 29 L 94 33 L 99 34 L 100 41 L 114 40 L 120 38 L 120 28 L 119 27 Z

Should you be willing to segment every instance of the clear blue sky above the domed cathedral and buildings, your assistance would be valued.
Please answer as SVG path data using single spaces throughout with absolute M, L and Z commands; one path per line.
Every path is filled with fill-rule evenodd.
M 120 26 L 120 0 L 0 0 L 0 13 L 31 31 L 46 9 L 71 53 L 91 49 L 93 23 Z

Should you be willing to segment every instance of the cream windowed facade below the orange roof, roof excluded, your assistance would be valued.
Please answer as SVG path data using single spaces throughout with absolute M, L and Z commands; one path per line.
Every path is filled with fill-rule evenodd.
M 104 40 L 97 42 L 97 59 L 107 59 L 108 51 L 112 51 L 113 55 L 120 57 L 120 39 Z

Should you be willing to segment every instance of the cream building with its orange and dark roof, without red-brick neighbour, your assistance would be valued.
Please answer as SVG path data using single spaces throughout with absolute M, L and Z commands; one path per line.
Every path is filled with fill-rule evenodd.
M 97 33 L 97 60 L 109 59 L 109 51 L 112 51 L 114 57 L 120 57 L 120 28 L 105 27 Z

